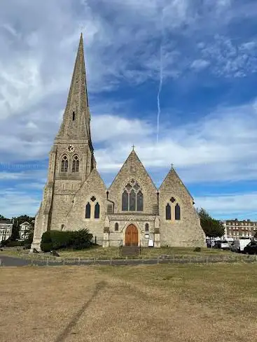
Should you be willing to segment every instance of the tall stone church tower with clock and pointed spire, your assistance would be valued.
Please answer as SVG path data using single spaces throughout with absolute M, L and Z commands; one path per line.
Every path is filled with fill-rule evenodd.
M 36 215 L 32 249 L 40 250 L 44 231 L 67 229 L 74 196 L 95 166 L 81 34 L 62 124 L 50 150 L 48 180 Z

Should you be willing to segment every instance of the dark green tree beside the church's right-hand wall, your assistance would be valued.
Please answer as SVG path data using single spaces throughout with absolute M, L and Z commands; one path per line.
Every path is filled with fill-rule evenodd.
M 206 236 L 216 238 L 224 235 L 224 227 L 220 221 L 211 218 L 211 215 L 203 208 L 197 209 L 197 213 Z

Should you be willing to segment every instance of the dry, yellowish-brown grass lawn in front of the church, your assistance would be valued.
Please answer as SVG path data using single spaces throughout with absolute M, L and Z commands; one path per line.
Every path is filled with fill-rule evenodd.
M 252 342 L 256 267 L 2 267 L 0 340 Z

